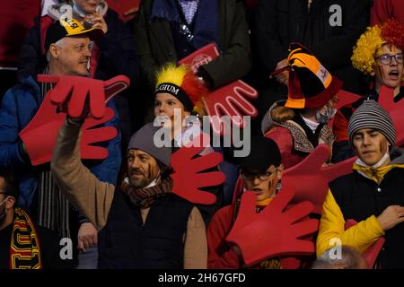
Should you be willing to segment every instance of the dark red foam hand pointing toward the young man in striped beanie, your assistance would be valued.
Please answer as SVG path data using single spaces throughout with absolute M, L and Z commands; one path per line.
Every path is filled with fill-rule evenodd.
M 356 158 L 325 166 L 329 159 L 329 146 L 319 144 L 299 164 L 285 170 L 282 184 L 296 191 L 292 203 L 308 200 L 314 204 L 314 213 L 321 214 L 322 204 L 329 189 L 329 181 L 352 172 Z

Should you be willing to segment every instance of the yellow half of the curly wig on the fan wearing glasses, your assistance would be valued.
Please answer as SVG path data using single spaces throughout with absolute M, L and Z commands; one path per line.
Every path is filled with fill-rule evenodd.
M 382 47 L 382 44 L 382 28 L 378 25 L 368 27 L 356 42 L 351 57 L 352 65 L 364 74 L 371 74 L 375 64 L 374 53 Z

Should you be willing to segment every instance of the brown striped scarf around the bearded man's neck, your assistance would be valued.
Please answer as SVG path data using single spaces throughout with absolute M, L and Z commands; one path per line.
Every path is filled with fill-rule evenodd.
M 147 208 L 154 204 L 157 197 L 171 193 L 172 179 L 166 177 L 161 181 L 155 180 L 147 187 L 136 189 L 130 187 L 127 178 L 125 178 L 119 189 L 129 196 L 132 204 L 139 206 L 140 208 Z

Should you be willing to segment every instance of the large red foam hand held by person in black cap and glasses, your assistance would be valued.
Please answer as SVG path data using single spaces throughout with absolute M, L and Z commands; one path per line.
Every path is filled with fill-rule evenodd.
M 256 213 L 255 194 L 243 194 L 237 220 L 226 240 L 242 250 L 246 265 L 271 257 L 314 253 L 314 242 L 303 238 L 318 230 L 319 221 L 304 219 L 312 213 L 310 202 L 285 210 L 293 197 L 293 190 L 283 189 L 261 213 Z

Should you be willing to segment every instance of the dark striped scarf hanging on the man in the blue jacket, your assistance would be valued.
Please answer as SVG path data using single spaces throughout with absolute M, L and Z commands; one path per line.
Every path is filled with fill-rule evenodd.
M 48 67 L 43 74 L 48 74 Z M 41 83 L 42 100 L 52 88 L 51 83 Z M 70 204 L 60 192 L 47 167 L 40 172 L 38 183 L 37 223 L 49 230 L 57 231 L 62 238 L 71 238 L 69 217 Z

